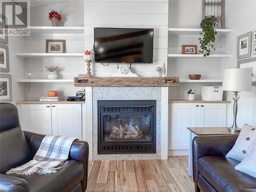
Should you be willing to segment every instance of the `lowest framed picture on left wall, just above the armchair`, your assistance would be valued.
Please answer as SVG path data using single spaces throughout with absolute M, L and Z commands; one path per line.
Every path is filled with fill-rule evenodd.
M 0 102 L 12 101 L 12 76 L 0 74 Z

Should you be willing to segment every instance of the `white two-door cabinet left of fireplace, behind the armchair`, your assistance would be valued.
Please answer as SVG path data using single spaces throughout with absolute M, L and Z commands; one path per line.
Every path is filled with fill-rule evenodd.
M 22 129 L 81 139 L 81 104 L 21 104 Z

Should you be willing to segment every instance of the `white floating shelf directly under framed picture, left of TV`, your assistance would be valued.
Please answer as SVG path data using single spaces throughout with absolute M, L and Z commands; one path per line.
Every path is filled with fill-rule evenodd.
M 16 53 L 18 57 L 25 58 L 83 58 L 83 53 Z

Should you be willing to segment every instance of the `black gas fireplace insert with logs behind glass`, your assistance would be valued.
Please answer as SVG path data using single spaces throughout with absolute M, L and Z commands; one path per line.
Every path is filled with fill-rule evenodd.
M 98 100 L 98 154 L 156 153 L 156 100 Z

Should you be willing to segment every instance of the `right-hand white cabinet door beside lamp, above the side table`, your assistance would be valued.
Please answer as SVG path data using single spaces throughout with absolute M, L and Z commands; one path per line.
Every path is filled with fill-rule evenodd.
M 226 103 L 201 103 L 199 126 L 226 126 Z

